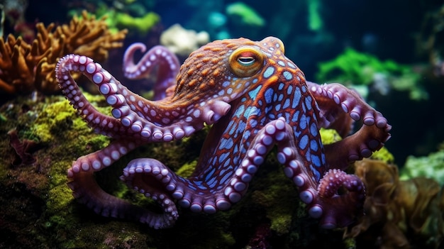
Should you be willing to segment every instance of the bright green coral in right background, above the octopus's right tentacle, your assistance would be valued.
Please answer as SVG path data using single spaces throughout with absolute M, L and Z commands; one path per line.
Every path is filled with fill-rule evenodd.
M 411 99 L 428 98 L 426 90 L 419 84 L 420 75 L 413 72 L 411 66 L 400 65 L 393 60 L 382 61 L 353 48 L 346 48 L 333 60 L 319 63 L 318 68 L 318 82 L 340 82 L 348 86 L 387 82 L 389 88 L 408 91 Z M 384 84 L 375 87 L 383 93 L 386 91 Z

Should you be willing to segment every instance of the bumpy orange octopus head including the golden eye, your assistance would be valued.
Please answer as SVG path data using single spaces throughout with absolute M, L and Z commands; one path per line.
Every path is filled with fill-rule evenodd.
M 301 75 L 284 56 L 284 44 L 274 37 L 216 40 L 192 52 L 177 76 L 173 98 L 233 99 L 257 84 Z

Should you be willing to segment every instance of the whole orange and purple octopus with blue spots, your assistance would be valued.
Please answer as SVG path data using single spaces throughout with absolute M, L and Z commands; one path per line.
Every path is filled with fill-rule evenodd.
M 320 226 L 348 226 L 362 214 L 365 185 L 344 170 L 382 148 L 392 126 L 357 92 L 337 83 L 306 81 L 274 37 L 216 40 L 192 52 L 180 68 L 174 54 L 160 46 L 135 64 L 135 50 L 145 48 L 128 48 L 125 74 L 135 78 L 157 72 L 158 99 L 131 92 L 89 57 L 65 55 L 57 63 L 57 81 L 70 104 L 96 133 L 113 138 L 67 171 L 80 203 L 102 216 L 171 227 L 182 209 L 207 214 L 230 209 L 276 147 L 284 175 Z M 94 82 L 111 114 L 100 113 L 85 99 L 72 72 Z M 355 132 L 353 124 L 360 125 Z M 141 145 L 180 140 L 204 126 L 211 128 L 191 177 L 153 158 L 131 160 L 123 169 L 123 182 L 157 201 L 160 211 L 114 197 L 94 179 L 94 172 Z M 333 128 L 344 139 L 323 145 L 320 128 Z

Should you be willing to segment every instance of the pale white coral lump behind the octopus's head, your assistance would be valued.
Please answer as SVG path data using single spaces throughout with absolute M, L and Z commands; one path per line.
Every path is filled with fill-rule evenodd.
M 209 40 L 209 33 L 187 30 L 178 23 L 160 35 L 160 44 L 182 57 L 188 57 L 191 52 L 201 45 L 209 43 Z

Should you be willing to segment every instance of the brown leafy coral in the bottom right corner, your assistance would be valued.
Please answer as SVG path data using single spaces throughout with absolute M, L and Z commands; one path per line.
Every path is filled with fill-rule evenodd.
M 443 189 L 432 179 L 400 181 L 396 165 L 379 160 L 355 162 L 367 187 L 365 216 L 345 231 L 357 246 L 438 248 L 444 236 Z

